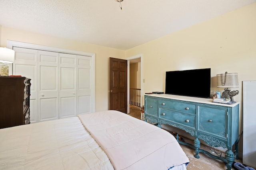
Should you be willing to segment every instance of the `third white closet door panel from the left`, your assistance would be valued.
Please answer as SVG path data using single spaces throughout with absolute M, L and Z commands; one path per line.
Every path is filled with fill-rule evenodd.
M 76 116 L 76 55 L 60 53 L 60 118 Z

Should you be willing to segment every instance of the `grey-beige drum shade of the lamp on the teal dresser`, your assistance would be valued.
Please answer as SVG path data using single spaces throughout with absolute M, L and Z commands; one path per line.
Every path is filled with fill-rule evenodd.
M 231 88 L 239 87 L 237 73 L 217 74 L 217 87 Z

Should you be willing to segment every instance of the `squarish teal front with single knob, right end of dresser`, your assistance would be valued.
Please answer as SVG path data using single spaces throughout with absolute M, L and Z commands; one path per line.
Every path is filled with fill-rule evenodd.
M 199 131 L 226 138 L 227 134 L 226 107 L 199 107 Z

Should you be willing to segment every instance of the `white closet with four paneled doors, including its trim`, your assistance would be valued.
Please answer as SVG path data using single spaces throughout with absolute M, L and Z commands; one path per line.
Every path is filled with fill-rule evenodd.
M 12 74 L 31 78 L 31 123 L 95 111 L 93 54 L 18 44 L 12 42 Z

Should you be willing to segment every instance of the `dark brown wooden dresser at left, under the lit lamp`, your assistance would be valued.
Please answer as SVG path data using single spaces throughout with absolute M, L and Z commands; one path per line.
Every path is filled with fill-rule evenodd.
M 30 79 L 0 76 L 0 129 L 30 123 Z

